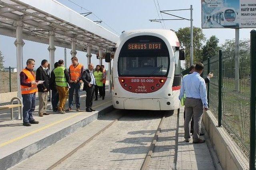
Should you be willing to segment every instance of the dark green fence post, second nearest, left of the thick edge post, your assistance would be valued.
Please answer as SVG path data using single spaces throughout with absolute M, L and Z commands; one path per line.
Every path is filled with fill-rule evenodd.
M 221 116 L 222 116 L 222 51 L 219 50 L 219 98 L 218 98 L 218 127 L 221 127 Z

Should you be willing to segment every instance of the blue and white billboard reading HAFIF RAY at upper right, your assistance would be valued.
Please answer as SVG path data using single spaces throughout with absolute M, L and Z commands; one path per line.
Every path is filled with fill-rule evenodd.
M 256 0 L 202 0 L 202 28 L 255 28 Z

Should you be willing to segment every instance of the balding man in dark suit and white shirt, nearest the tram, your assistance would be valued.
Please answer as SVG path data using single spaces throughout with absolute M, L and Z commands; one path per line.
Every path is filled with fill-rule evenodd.
M 82 81 L 84 82 L 84 87 L 86 90 L 86 111 L 92 112 L 95 111 L 92 109 L 92 102 L 93 102 L 93 95 L 94 95 L 94 89 L 96 85 L 96 81 L 93 75 L 93 64 L 88 65 L 88 69 L 85 70 L 82 74 Z

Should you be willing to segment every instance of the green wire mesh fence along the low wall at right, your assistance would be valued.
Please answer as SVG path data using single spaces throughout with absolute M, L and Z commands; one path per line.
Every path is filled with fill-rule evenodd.
M 218 56 L 210 58 L 209 108 L 218 119 Z M 203 77 L 208 73 L 204 61 Z M 250 41 L 222 51 L 222 126 L 249 158 L 250 139 Z

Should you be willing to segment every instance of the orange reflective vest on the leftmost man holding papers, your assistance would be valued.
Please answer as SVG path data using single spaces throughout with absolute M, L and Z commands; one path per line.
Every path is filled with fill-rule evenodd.
M 26 76 L 28 77 L 28 79 L 26 79 L 26 82 L 35 82 L 36 81 L 35 75 L 33 75 L 26 68 L 24 68 L 22 70 L 22 72 L 24 72 L 26 74 Z M 20 85 L 20 88 L 21 88 L 21 94 L 32 94 L 32 93 L 38 92 L 38 89 L 37 89 L 36 85 L 32 85 L 32 87 Z

